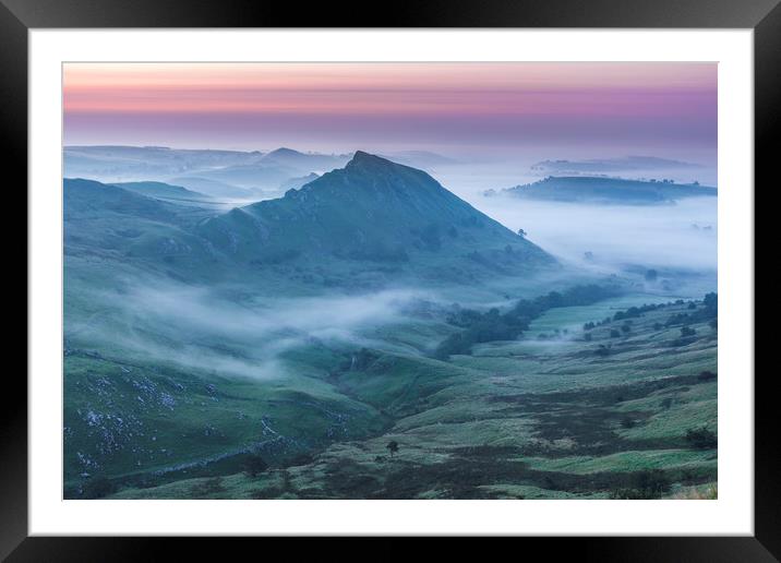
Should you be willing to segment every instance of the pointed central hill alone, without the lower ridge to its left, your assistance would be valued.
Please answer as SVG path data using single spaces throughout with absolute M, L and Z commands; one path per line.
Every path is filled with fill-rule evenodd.
M 428 173 L 363 152 L 284 197 L 208 219 L 199 233 L 228 254 L 260 263 L 324 254 L 373 262 L 553 262 Z

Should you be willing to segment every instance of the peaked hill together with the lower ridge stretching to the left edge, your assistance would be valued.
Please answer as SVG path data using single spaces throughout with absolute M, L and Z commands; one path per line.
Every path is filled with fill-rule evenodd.
M 194 192 L 163 183 L 67 179 L 64 192 L 69 255 L 99 253 L 122 269 L 179 280 L 252 280 L 298 294 L 462 286 L 556 264 L 428 173 L 361 152 L 283 197 L 227 213 L 180 201 Z

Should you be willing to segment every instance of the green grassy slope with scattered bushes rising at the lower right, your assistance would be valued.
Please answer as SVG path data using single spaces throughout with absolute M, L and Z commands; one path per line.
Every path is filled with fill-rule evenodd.
M 707 323 L 681 342 L 681 326 L 656 328 L 688 304 L 561 334 L 544 354 L 537 340 L 441 362 L 363 352 L 328 381 L 371 405 L 392 426 L 338 441 L 313 458 L 256 477 L 235 472 L 115 498 L 593 499 L 689 494 L 717 479 L 713 446 L 687 432 L 716 432 L 716 331 Z M 697 306 L 701 308 L 702 306 Z M 588 310 L 599 321 L 602 306 Z M 563 325 L 569 320 L 562 319 Z M 604 356 L 597 350 L 610 346 Z M 498 363 L 501 362 L 501 363 Z M 704 372 L 706 374 L 704 375 Z M 707 372 L 711 372 L 707 374 Z M 395 441 L 398 452 L 386 445 Z M 650 484 L 648 484 L 650 483 Z

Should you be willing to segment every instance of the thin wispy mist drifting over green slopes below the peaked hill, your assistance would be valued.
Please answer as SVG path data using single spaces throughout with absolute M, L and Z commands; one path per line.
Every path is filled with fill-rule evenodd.
M 382 347 L 364 335 L 433 297 L 399 289 L 272 299 L 237 289 L 125 278 L 117 289 L 93 294 L 97 313 L 68 315 L 67 346 L 121 351 L 197 372 L 274 379 L 288 374 L 281 356 L 299 347 Z

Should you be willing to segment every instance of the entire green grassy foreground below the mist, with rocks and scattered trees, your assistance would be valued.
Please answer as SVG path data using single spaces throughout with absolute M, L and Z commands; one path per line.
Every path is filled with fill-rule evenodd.
M 91 494 L 92 460 L 116 499 L 713 498 L 716 443 L 687 434 L 717 429 L 717 332 L 664 326 L 701 302 L 586 339 L 585 322 L 638 299 L 552 310 L 449 361 L 423 349 L 453 327 L 400 323 L 374 334 L 383 349 L 298 350 L 279 381 L 74 351 L 67 491 Z M 268 467 L 245 470 L 259 455 Z

